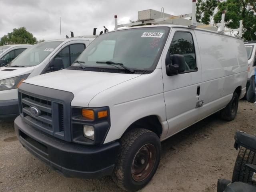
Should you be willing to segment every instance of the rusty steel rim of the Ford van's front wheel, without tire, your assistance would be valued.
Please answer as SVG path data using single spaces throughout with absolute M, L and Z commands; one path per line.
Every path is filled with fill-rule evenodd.
M 132 162 L 132 178 L 143 181 L 152 172 L 156 163 L 156 148 L 152 144 L 142 146 Z

